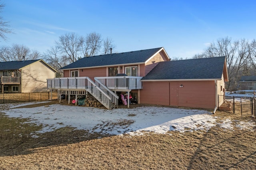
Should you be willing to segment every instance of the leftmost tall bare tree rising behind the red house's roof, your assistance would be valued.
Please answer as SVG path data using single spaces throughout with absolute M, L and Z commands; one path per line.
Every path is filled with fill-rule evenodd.
M 79 57 L 80 51 L 82 50 L 82 40 L 84 39 L 75 33 L 68 33 L 60 36 L 59 41 L 55 43 L 62 55 L 67 55 L 70 63 L 72 63 Z

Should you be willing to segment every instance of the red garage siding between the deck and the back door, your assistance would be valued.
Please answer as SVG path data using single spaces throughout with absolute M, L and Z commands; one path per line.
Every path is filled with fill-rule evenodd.
M 169 105 L 168 82 L 143 82 L 140 90 L 140 103 L 153 105 Z

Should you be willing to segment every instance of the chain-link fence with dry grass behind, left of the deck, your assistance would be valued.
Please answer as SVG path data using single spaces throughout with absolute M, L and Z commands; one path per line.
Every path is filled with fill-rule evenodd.
M 0 94 L 0 103 L 15 103 L 25 101 L 43 101 L 51 99 L 50 92 L 42 93 L 4 93 Z M 57 99 L 57 92 L 52 92 L 52 99 Z

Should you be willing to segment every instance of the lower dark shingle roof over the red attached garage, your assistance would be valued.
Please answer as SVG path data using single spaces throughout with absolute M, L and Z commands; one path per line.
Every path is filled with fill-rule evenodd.
M 164 61 L 142 80 L 221 79 L 224 61 L 225 57 Z

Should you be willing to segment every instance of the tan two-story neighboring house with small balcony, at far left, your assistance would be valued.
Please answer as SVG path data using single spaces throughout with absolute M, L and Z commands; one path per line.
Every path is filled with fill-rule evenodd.
M 49 91 L 46 79 L 57 71 L 42 59 L 0 62 L 0 91 L 2 93 L 31 93 Z

